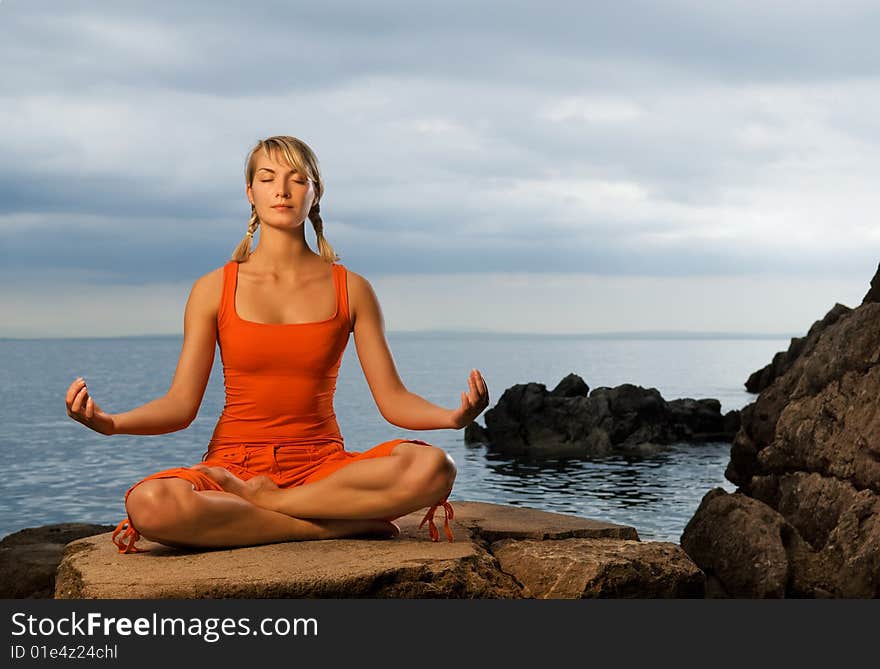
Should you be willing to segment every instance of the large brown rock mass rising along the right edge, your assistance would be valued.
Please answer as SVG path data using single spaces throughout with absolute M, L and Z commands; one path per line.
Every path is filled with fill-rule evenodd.
M 880 597 L 880 302 L 837 311 L 742 409 L 738 490 L 685 527 L 710 593 Z

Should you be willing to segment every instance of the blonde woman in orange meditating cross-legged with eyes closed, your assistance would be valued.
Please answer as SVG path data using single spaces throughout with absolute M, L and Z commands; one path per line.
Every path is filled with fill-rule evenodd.
M 353 332 L 379 411 L 408 430 L 469 424 L 488 405 L 485 381 L 472 370 L 468 391 L 451 410 L 404 387 L 372 286 L 337 263 L 324 238 L 324 184 L 304 142 L 261 140 L 248 156 L 245 178 L 252 212 L 247 234 L 229 262 L 193 284 L 168 393 L 111 415 L 83 378 L 67 391 L 67 414 L 101 434 L 181 430 L 198 413 L 220 346 L 226 404 L 202 462 L 157 472 L 129 488 L 128 517 L 113 542 L 119 552 L 132 553 L 142 552 L 135 546 L 141 535 L 181 547 L 395 537 L 400 530 L 391 521 L 425 506 L 422 523 L 428 521 L 436 541 L 433 513 L 440 505 L 452 541 L 447 497 L 454 462 L 418 439 L 346 451 L 333 410 L 339 363 Z M 306 243 L 306 217 L 319 254 Z M 257 226 L 260 244 L 252 252 Z

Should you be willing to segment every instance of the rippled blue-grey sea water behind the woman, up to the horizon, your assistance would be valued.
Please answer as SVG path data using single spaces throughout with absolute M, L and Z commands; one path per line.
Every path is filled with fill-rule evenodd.
M 401 378 L 425 399 L 458 404 L 472 367 L 489 385 L 490 407 L 505 388 L 535 381 L 552 389 L 574 372 L 590 388 L 634 383 L 667 400 L 714 397 L 722 412 L 754 397 L 743 382 L 778 350 L 777 339 L 601 339 L 472 334 L 389 333 Z M 166 435 L 105 437 L 70 420 L 64 392 L 85 376 L 91 394 L 111 413 L 163 394 L 181 338 L 0 341 L 0 536 L 57 522 L 116 523 L 130 485 L 161 469 L 199 461 L 223 407 L 219 353 L 199 417 Z M 643 540 L 678 542 L 703 495 L 724 479 L 730 445 L 679 444 L 649 457 L 529 461 L 466 446 L 463 431 L 413 432 L 379 414 L 354 343 L 343 359 L 336 412 L 346 448 L 363 451 L 396 437 L 444 448 L 458 477 L 450 500 L 533 507 L 631 525 Z M 478 422 L 484 424 L 483 418 Z

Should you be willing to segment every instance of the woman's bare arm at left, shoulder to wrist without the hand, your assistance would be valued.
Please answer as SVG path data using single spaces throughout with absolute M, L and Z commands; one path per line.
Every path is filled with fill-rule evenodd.
M 217 345 L 217 309 L 223 268 L 200 277 L 186 303 L 183 347 L 168 392 L 151 402 L 113 414 L 113 434 L 166 434 L 188 427 L 198 415 Z

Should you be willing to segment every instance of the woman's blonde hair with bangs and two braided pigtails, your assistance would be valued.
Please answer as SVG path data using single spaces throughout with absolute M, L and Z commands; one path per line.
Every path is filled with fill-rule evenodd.
M 324 180 L 321 178 L 321 169 L 314 151 L 301 139 L 289 135 L 275 135 L 274 137 L 261 139 L 251 149 L 245 162 L 244 178 L 248 186 L 254 183 L 254 174 L 257 171 L 257 155 L 260 151 L 267 158 L 271 158 L 272 153 L 275 151 L 280 152 L 293 169 L 304 174 L 314 183 L 315 202 L 312 204 L 311 210 L 309 210 L 309 220 L 312 222 L 312 227 L 315 229 L 315 237 L 318 239 L 318 251 L 321 258 L 327 263 L 339 260 L 339 256 L 336 255 L 333 247 L 330 246 L 330 242 L 324 239 L 324 221 L 321 219 L 321 208 L 319 206 L 319 202 L 324 195 Z M 238 262 L 247 260 L 251 254 L 251 239 L 253 239 L 259 224 L 260 218 L 257 216 L 254 206 L 251 205 L 251 220 L 248 221 L 247 233 L 245 233 L 244 239 L 241 240 L 235 251 L 232 252 L 231 260 Z

